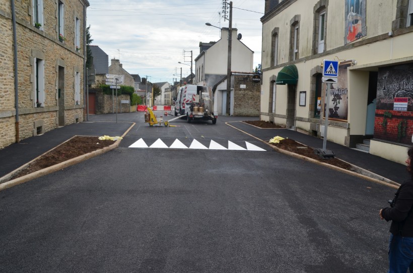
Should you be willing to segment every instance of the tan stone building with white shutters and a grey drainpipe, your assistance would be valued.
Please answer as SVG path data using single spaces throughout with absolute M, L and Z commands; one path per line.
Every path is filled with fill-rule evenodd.
M 0 0 L 0 148 L 83 121 L 87 7 L 87 0 Z

